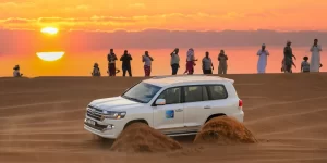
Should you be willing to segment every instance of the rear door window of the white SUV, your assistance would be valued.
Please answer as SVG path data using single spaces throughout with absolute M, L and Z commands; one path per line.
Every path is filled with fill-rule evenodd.
M 197 102 L 208 100 L 207 89 L 204 86 L 184 87 L 185 102 Z

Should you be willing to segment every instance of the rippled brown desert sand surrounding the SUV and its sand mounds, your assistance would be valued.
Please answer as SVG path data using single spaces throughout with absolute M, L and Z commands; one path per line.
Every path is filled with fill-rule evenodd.
M 86 105 L 118 96 L 143 78 L 0 78 L 1 163 L 325 163 L 327 74 L 226 75 L 244 102 L 244 125 L 258 140 L 246 145 L 194 145 L 132 154 L 84 130 Z

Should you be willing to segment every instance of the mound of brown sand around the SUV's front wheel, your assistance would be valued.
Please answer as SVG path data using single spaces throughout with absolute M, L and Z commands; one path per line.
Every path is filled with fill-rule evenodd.
M 119 152 L 170 152 L 182 146 L 143 123 L 128 126 L 111 146 Z

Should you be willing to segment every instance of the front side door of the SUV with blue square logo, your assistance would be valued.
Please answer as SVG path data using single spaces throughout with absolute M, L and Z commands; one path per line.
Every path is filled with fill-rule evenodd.
M 154 105 L 154 128 L 167 135 L 181 134 L 185 130 L 181 87 L 164 90 L 157 99 L 165 99 L 165 105 Z

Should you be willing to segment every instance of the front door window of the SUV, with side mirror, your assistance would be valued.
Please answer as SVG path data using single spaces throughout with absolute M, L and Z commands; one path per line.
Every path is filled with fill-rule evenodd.
M 165 99 L 166 104 L 181 103 L 181 88 L 168 88 L 161 92 L 158 99 Z

